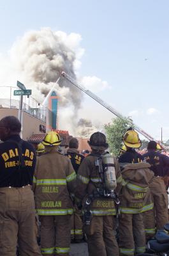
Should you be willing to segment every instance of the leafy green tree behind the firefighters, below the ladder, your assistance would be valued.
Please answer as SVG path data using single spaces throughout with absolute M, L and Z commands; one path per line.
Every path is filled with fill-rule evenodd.
M 122 136 L 129 127 L 134 128 L 133 120 L 131 120 L 129 117 L 117 117 L 112 119 L 112 124 L 105 125 L 110 152 L 112 152 L 115 156 L 119 155 L 119 151 L 122 147 Z

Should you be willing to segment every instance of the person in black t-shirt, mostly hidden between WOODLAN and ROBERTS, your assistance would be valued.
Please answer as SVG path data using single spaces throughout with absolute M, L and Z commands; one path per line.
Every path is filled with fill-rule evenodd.
M 77 173 L 78 168 L 84 159 L 84 156 L 82 156 L 78 152 L 77 138 L 71 138 L 66 156 L 70 158 L 71 164 L 73 165 L 73 168 Z M 76 243 L 82 241 L 84 236 L 82 231 L 81 215 L 81 211 L 79 211 L 77 206 L 75 205 L 74 213 L 71 216 L 71 241 L 75 241 Z

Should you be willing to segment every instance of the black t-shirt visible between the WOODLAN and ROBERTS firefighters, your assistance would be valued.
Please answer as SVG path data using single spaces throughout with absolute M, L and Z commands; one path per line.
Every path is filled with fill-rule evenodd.
M 68 149 L 66 156 L 70 158 L 71 164 L 73 165 L 73 169 L 77 173 L 78 168 L 85 157 L 79 154 L 78 151 L 74 148 Z

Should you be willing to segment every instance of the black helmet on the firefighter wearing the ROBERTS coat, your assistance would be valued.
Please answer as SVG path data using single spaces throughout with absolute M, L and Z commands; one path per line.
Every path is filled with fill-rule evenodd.
M 105 150 L 108 148 L 107 138 L 102 132 L 94 132 L 87 142 L 91 148 L 96 150 Z

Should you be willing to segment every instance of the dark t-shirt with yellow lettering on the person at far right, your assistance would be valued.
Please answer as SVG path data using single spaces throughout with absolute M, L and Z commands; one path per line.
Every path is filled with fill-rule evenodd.
M 165 156 L 155 150 L 148 150 L 146 154 L 143 154 L 143 159 L 151 164 L 151 170 L 155 176 L 164 177 L 169 173 L 169 157 Z

